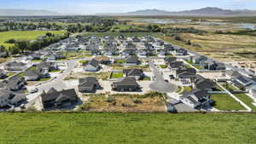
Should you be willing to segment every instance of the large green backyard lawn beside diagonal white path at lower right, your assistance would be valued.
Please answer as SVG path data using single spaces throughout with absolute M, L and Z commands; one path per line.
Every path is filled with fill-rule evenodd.
M 228 94 L 212 94 L 212 101 L 214 102 L 214 107 L 218 110 L 245 110 L 241 104 L 235 101 Z

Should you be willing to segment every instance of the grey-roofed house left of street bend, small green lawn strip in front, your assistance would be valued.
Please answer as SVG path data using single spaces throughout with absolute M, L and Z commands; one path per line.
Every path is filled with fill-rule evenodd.
M 31 69 L 24 72 L 24 76 L 26 81 L 38 81 L 40 78 L 49 78 L 48 70 L 37 68 Z

